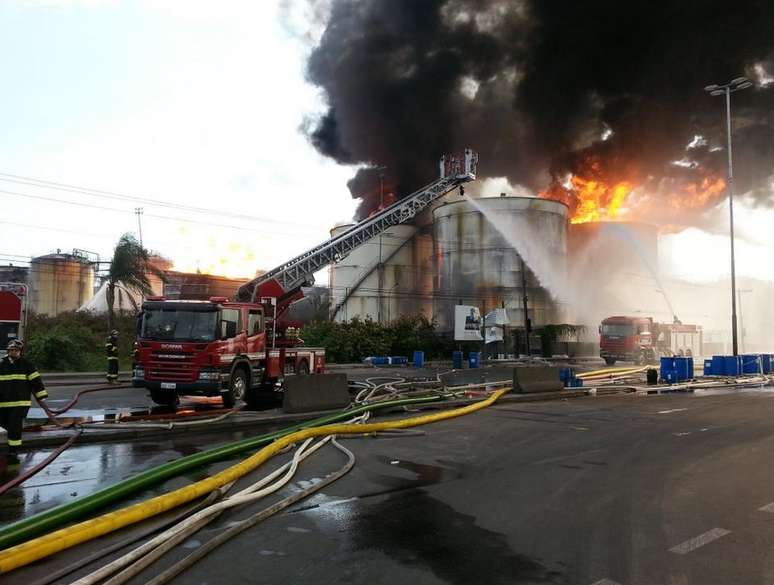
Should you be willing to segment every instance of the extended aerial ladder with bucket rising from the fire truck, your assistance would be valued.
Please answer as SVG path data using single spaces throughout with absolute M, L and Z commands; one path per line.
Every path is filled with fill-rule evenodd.
M 389 228 L 410 221 L 433 201 L 476 178 L 478 153 L 465 149 L 462 156 L 441 157 L 438 179 L 361 221 L 351 229 L 288 260 L 273 270 L 242 285 L 236 300 L 273 305 L 274 325 L 292 303 L 303 298 L 302 287 L 314 284 L 314 273 L 340 262 L 355 248 L 378 237 Z M 268 307 L 267 307 L 268 308 Z M 272 316 L 271 312 L 267 313 Z

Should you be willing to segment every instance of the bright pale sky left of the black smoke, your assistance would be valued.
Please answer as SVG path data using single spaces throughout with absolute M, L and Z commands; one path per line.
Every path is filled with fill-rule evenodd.
M 142 207 L 143 244 L 176 268 L 251 276 L 352 217 L 353 169 L 300 131 L 324 102 L 293 18 L 279 2 L 212 6 L 0 3 L 0 262 L 109 259 Z

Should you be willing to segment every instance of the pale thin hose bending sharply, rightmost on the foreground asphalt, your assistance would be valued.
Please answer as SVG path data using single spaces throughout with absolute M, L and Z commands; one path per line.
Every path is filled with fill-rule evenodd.
M 212 550 L 216 549 L 217 547 L 227 542 L 228 540 L 231 540 L 234 536 L 244 532 L 248 528 L 252 528 L 259 522 L 262 522 L 263 520 L 270 518 L 277 512 L 281 512 L 285 508 L 292 506 L 296 502 L 299 502 L 304 498 L 311 496 L 313 493 L 321 490 L 325 486 L 330 485 L 334 481 L 344 477 L 344 475 L 349 473 L 349 471 L 355 465 L 355 454 L 352 453 L 352 451 L 350 451 L 343 445 L 339 444 L 335 438 L 332 440 L 332 443 L 337 449 L 339 449 L 340 451 L 342 451 L 344 454 L 347 455 L 347 462 L 344 464 L 344 466 L 341 469 L 339 469 L 338 471 L 336 471 L 331 475 L 326 476 L 319 483 L 309 486 L 308 488 L 300 492 L 296 492 L 288 496 L 287 498 L 280 500 L 276 504 L 273 504 L 272 506 L 269 506 L 268 508 L 261 510 L 257 514 L 253 514 L 252 516 L 245 518 L 244 520 L 240 520 L 239 522 L 232 524 L 225 531 L 221 532 L 211 540 L 207 541 L 205 544 L 203 544 L 201 547 L 196 549 L 190 555 L 179 560 L 177 563 L 175 563 L 174 565 L 166 569 L 163 573 L 151 579 L 148 583 L 146 583 L 146 585 L 165 585 L 166 583 L 169 583 L 169 581 L 174 579 L 177 575 L 179 575 L 186 569 L 192 567 L 194 564 L 196 564 L 198 561 L 204 558 L 207 554 L 209 554 Z

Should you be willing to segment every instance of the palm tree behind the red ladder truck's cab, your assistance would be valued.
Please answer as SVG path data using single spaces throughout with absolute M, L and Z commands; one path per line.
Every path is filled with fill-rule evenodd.
M 150 254 L 143 248 L 132 234 L 124 234 L 118 240 L 113 251 L 113 259 L 110 261 L 108 271 L 107 289 L 105 296 L 108 305 L 108 330 L 115 328 L 114 305 L 116 290 L 124 290 L 127 293 L 139 293 L 142 296 L 152 294 L 148 274 L 157 275 L 162 281 L 166 280 L 164 273 L 150 264 Z M 126 295 L 137 309 L 137 303 L 131 294 Z

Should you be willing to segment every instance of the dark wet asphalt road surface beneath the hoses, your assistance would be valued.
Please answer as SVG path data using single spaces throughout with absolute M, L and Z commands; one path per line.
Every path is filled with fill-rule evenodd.
M 745 391 L 502 404 L 423 427 L 424 436 L 350 439 L 357 463 L 349 475 L 175 583 L 774 583 L 773 398 Z M 106 450 L 109 482 L 208 442 L 82 449 Z M 81 459 L 78 449 L 68 457 Z M 276 497 L 343 461 L 325 447 Z M 47 497 L 27 492 L 23 505 L 47 507 Z M 269 501 L 224 514 L 132 582 L 147 582 Z M 3 583 L 29 585 L 111 538 Z

